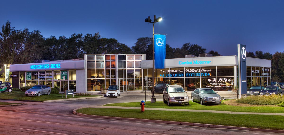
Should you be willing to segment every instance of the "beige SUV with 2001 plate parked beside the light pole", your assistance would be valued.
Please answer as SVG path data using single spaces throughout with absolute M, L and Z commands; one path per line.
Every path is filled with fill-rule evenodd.
M 189 99 L 187 96 L 187 91 L 183 89 L 180 85 L 166 85 L 163 92 L 163 101 L 171 104 L 185 104 L 189 105 Z

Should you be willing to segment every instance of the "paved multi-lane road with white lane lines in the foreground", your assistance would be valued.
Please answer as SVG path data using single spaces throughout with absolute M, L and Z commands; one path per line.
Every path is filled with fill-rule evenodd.
M 0 111 L 0 117 L 1 135 L 283 135 L 280 133 L 88 118 L 76 115 Z

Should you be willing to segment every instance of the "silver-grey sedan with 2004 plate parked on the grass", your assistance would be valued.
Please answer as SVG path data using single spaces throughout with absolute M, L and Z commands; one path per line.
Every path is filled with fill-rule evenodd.
M 200 102 L 201 105 L 204 104 L 221 104 L 222 98 L 218 92 L 215 92 L 211 88 L 197 88 L 191 92 L 191 101 Z

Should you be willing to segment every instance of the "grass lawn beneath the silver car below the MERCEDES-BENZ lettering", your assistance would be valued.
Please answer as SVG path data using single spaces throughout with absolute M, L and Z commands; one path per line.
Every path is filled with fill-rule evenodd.
M 94 97 L 98 95 L 91 95 L 91 96 L 75 96 L 74 98 L 81 98 L 81 97 Z M 67 95 L 67 98 L 72 98 L 72 95 Z M 30 100 L 30 101 L 46 101 L 46 100 L 57 100 L 57 99 L 65 99 L 65 94 L 50 94 L 50 95 L 40 95 L 40 96 L 26 96 L 25 92 L 22 91 L 12 91 L 12 92 L 3 92 L 0 93 L 0 99 L 12 99 L 12 100 Z

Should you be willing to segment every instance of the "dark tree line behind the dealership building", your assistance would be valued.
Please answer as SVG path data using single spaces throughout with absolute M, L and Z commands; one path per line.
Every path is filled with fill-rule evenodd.
M 0 31 L 0 64 L 34 63 L 34 60 L 68 60 L 83 58 L 84 54 L 146 54 L 146 59 L 153 59 L 153 38 L 140 37 L 128 47 L 114 38 L 104 38 L 99 32 L 72 34 L 69 38 L 54 36 L 44 38 L 38 30 L 28 28 L 17 30 L 7 21 Z M 217 51 L 206 51 L 200 45 L 185 43 L 182 47 L 172 48 L 166 44 L 166 58 L 184 58 L 187 54 L 210 53 L 222 56 Z M 284 81 L 284 52 L 256 51 L 247 52 L 247 57 L 272 60 L 272 80 Z

